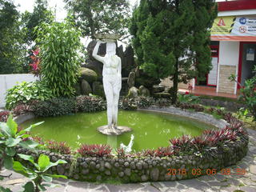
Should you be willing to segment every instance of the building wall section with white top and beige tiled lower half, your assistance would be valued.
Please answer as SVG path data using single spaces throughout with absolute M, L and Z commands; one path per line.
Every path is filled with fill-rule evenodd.
M 238 74 L 239 42 L 220 42 L 217 92 L 236 94 L 237 83 L 231 82 L 230 74 Z

